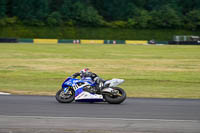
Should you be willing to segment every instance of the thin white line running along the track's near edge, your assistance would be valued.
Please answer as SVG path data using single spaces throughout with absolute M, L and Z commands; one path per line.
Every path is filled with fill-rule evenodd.
M 128 118 L 95 118 L 95 117 L 51 117 L 51 116 L 7 116 L 0 115 L 0 117 L 10 118 L 40 118 L 40 119 L 84 119 L 84 120 L 122 120 L 122 121 L 163 121 L 163 122 L 198 122 L 200 120 L 172 120 L 172 119 L 128 119 Z

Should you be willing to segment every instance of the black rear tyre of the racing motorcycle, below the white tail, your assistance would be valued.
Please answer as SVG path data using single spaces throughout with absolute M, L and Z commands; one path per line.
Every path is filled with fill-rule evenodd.
M 126 92 L 119 87 L 112 87 L 114 90 L 118 90 L 119 94 L 118 95 L 111 95 L 111 94 L 105 94 L 104 99 L 106 102 L 110 104 L 120 104 L 126 99 Z

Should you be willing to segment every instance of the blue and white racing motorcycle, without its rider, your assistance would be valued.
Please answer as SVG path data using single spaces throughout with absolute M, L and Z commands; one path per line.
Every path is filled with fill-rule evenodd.
M 126 92 L 117 87 L 123 79 L 107 80 L 100 83 L 101 91 L 96 89 L 97 84 L 92 80 L 81 80 L 68 77 L 62 88 L 56 93 L 56 100 L 60 103 L 76 102 L 108 102 L 120 104 L 126 99 Z

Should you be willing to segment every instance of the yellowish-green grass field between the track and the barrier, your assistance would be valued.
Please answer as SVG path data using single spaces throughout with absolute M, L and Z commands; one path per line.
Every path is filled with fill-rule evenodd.
M 85 67 L 129 97 L 200 98 L 200 46 L 0 44 L 0 91 L 55 95 Z

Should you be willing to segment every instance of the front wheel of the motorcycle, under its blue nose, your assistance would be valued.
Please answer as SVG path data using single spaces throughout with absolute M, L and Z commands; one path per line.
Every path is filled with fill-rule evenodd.
M 63 89 L 60 89 L 56 93 L 56 100 L 59 103 L 71 103 L 75 99 L 75 92 L 74 90 L 70 89 L 66 94 L 64 93 Z

